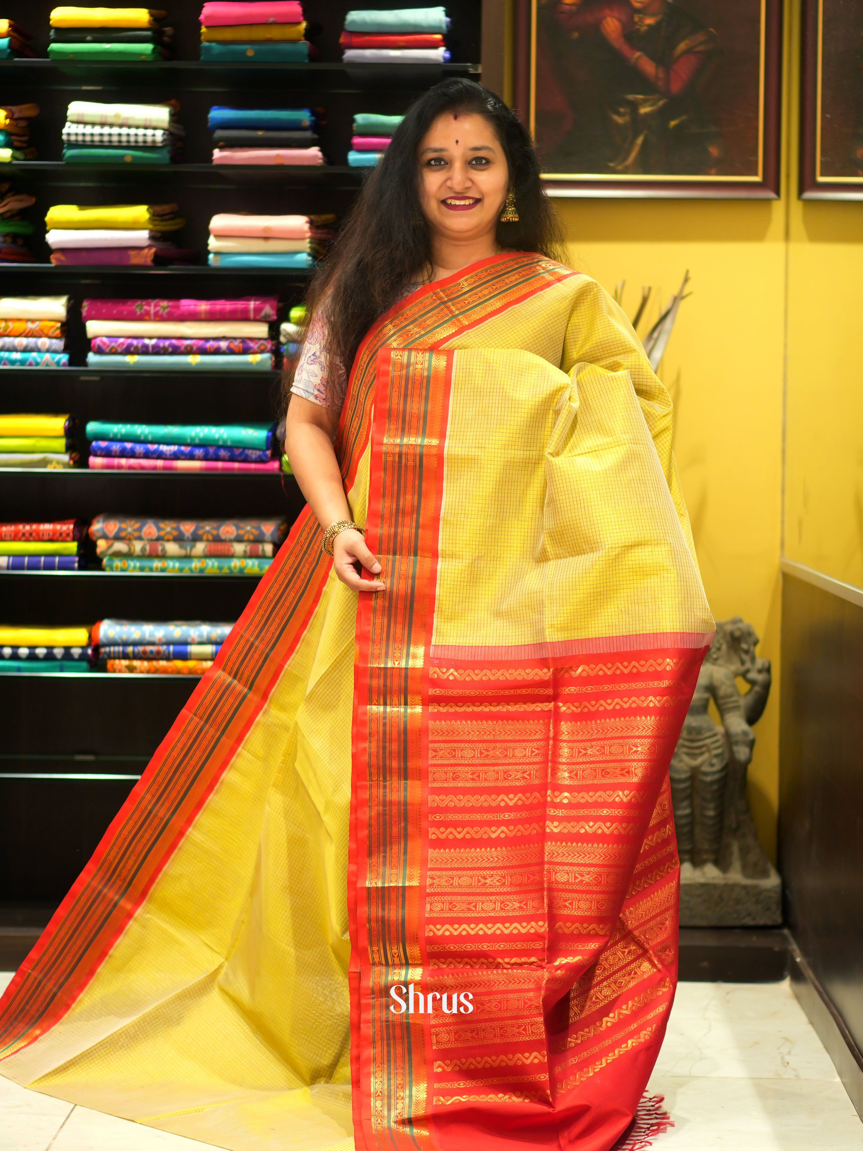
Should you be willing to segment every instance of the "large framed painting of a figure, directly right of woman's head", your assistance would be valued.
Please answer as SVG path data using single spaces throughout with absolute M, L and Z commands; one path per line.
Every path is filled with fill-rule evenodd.
M 781 18 L 781 0 L 515 0 L 549 193 L 778 197 Z

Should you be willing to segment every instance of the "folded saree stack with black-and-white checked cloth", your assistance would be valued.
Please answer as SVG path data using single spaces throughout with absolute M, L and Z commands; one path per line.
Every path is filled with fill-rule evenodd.
M 63 127 L 66 163 L 170 163 L 182 146 L 176 100 L 93 104 L 72 100 Z

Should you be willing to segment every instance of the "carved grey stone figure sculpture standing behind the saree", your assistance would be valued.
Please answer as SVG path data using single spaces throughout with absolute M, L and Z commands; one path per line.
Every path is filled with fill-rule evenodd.
M 753 724 L 770 694 L 770 661 L 739 616 L 717 624 L 716 638 L 671 761 L 681 862 L 681 927 L 766 927 L 781 923 L 781 882 L 764 854 L 746 798 Z M 741 693 L 738 677 L 749 691 Z M 713 701 L 721 726 L 709 715 Z

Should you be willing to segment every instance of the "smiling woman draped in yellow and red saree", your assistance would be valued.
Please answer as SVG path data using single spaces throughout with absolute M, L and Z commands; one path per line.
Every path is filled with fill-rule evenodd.
M 712 623 L 667 395 L 550 236 L 512 113 L 421 97 L 311 296 L 308 506 L 12 984 L 5 1074 L 237 1151 L 631 1127 Z

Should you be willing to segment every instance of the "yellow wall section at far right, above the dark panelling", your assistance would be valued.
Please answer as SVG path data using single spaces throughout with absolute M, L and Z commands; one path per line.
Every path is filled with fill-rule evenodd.
M 863 587 L 863 204 L 789 208 L 785 555 Z

